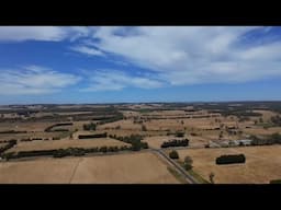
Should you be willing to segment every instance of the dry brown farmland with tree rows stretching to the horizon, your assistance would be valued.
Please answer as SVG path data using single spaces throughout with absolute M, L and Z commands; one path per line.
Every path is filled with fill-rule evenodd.
M 192 158 L 193 176 L 269 183 L 281 178 L 280 112 L 279 102 L 1 106 L 0 182 L 184 183 L 189 173 L 161 155 L 172 147 Z M 215 164 L 237 153 L 245 164 Z

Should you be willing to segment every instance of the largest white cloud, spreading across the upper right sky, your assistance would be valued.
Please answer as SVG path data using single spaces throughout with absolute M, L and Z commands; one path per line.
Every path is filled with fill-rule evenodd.
M 281 75 L 281 42 L 238 46 L 259 27 L 147 26 L 99 27 L 91 46 L 155 71 L 177 84 L 246 82 Z M 262 30 L 262 28 L 261 28 Z M 265 27 L 265 31 L 268 31 Z M 89 45 L 88 45 L 89 46 Z

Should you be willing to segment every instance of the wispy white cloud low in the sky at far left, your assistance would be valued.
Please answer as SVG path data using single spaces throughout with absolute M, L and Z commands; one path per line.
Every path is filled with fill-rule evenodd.
M 61 73 L 38 66 L 29 66 L 18 70 L 0 70 L 0 94 L 45 94 L 57 92 L 76 84 L 80 80 L 70 73 Z

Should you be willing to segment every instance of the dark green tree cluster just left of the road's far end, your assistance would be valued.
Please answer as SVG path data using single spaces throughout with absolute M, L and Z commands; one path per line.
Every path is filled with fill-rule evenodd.
M 148 143 L 143 142 L 143 137 L 140 135 L 131 135 L 127 137 L 116 137 L 115 135 L 110 135 L 110 138 L 131 143 L 132 144 L 132 150 L 133 151 L 139 151 L 142 149 L 148 149 Z

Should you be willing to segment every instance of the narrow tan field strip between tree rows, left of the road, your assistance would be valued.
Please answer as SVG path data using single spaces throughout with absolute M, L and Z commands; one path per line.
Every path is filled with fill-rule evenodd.
M 122 147 L 130 145 L 125 142 L 110 139 L 110 138 L 98 138 L 98 139 L 83 139 L 83 140 L 48 140 L 48 141 L 27 141 L 19 142 L 16 145 L 8 150 L 7 152 L 19 152 L 19 151 L 33 151 L 33 150 L 56 150 L 67 148 L 94 148 L 94 147 Z

